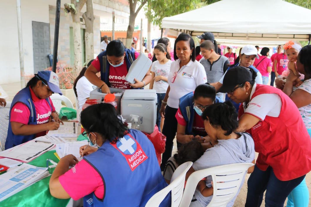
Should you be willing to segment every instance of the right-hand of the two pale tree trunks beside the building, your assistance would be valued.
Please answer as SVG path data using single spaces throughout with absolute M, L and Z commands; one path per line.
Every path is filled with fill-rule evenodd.
M 85 53 L 86 63 L 94 59 L 94 13 L 93 13 L 93 2 L 92 0 L 86 0 L 86 12 L 82 15 L 85 21 Z

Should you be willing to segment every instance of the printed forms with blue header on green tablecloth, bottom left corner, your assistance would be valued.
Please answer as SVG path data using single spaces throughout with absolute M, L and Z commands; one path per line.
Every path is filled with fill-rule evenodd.
M 0 201 L 48 177 L 47 169 L 23 163 L 21 166 L 15 167 L 14 170 L 0 175 Z

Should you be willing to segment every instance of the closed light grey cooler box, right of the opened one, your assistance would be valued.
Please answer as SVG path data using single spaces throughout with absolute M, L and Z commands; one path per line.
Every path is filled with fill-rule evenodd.
M 138 115 L 140 131 L 152 133 L 156 125 L 156 90 L 129 89 L 125 90 L 121 99 L 121 114 L 131 121 L 130 114 Z

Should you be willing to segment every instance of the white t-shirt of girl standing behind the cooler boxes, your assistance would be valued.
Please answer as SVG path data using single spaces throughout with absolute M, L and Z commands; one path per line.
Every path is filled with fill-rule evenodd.
M 169 76 L 169 70 L 173 61 L 168 60 L 165 64 L 160 64 L 159 61 L 155 61 L 151 65 L 151 72 L 154 72 L 156 76 Z M 153 89 L 156 90 L 157 94 L 165 94 L 169 83 L 166 81 L 154 81 Z

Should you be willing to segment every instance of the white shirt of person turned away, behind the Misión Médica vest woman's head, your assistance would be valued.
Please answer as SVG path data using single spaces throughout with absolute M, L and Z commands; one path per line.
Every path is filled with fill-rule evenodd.
M 76 85 L 77 95 L 78 95 L 78 105 L 79 108 L 82 108 L 82 105 L 85 103 L 86 99 L 90 97 L 90 93 L 92 90 L 96 88 L 95 85 L 91 84 L 89 80 L 86 79 L 85 76 L 82 76 Z

